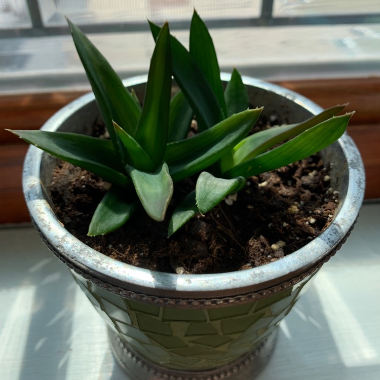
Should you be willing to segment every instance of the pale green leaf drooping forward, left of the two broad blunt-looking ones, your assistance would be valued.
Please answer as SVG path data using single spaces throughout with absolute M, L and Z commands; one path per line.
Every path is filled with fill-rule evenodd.
M 164 162 L 154 173 L 142 172 L 131 166 L 127 169 L 146 213 L 154 220 L 164 220 L 173 195 L 168 165 Z

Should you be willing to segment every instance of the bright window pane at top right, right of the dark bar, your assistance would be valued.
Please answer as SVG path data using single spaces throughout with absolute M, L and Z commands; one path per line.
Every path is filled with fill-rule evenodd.
M 355 15 L 380 12 L 379 0 L 275 0 L 274 17 Z

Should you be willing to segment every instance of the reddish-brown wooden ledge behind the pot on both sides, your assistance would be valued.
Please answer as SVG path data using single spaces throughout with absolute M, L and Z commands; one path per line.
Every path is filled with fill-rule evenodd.
M 348 133 L 363 157 L 366 172 L 365 198 L 380 198 L 380 78 L 281 81 L 277 84 L 312 99 L 322 107 L 349 102 L 355 110 Z M 6 132 L 38 129 L 59 108 L 83 91 L 0 95 L 0 223 L 29 221 L 21 188 L 22 163 L 27 145 Z

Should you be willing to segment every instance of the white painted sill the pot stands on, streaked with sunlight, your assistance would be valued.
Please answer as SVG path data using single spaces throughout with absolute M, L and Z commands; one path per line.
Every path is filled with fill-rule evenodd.
M 380 204 L 362 207 L 348 243 L 280 324 L 257 380 L 378 378 L 379 213 Z M 0 241 L 2 379 L 128 380 L 112 358 L 105 323 L 34 229 L 0 229 Z

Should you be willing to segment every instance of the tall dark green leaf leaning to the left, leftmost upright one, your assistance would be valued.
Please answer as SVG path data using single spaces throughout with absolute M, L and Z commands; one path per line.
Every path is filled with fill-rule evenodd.
M 123 86 L 118 74 L 87 36 L 70 20 L 67 22 L 108 133 L 113 143 L 118 146 L 112 120 L 115 120 L 131 136 L 134 136 L 141 109 L 134 97 Z

